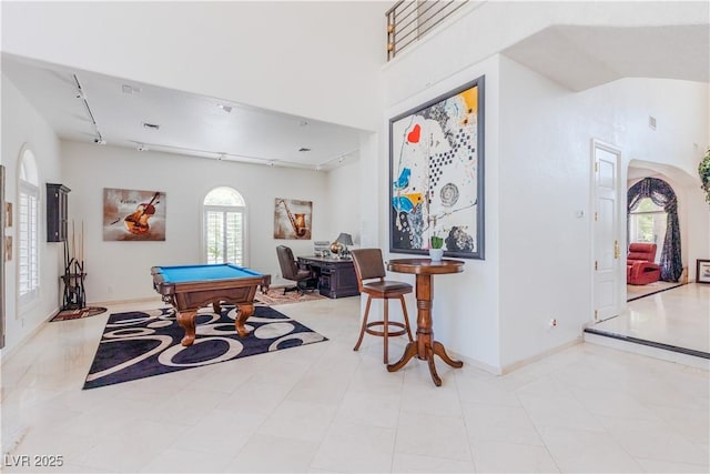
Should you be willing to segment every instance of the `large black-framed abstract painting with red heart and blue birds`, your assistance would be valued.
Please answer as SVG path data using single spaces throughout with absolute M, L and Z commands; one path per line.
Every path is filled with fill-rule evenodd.
M 389 250 L 484 259 L 484 77 L 389 120 Z

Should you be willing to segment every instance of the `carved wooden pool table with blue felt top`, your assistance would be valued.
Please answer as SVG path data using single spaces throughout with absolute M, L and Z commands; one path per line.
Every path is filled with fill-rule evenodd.
M 271 275 L 231 263 L 153 266 L 151 274 L 155 291 L 178 312 L 178 323 L 185 330 L 181 341 L 184 346 L 194 343 L 195 315 L 207 304 L 217 314 L 222 302 L 236 305 L 234 327 L 242 337 L 248 334 L 244 322 L 254 314 L 256 290 L 261 286 L 262 293 L 266 293 L 271 284 Z

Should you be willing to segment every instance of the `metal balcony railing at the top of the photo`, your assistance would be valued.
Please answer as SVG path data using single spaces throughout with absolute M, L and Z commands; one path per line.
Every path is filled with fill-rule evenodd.
M 468 0 L 399 0 L 387 17 L 387 61 L 424 37 Z

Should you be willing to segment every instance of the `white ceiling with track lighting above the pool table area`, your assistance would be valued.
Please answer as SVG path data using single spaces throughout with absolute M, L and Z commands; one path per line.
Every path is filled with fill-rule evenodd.
M 7 53 L 2 72 L 65 140 L 317 170 L 358 158 L 353 128 Z

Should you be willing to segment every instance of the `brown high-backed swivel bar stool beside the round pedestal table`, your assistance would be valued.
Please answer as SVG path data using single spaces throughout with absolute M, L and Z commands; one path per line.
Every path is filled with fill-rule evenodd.
M 361 293 L 367 294 L 367 305 L 365 306 L 365 315 L 363 316 L 363 325 L 359 330 L 359 337 L 353 351 L 359 349 L 365 333 L 384 337 L 384 362 L 389 362 L 387 354 L 387 342 L 389 337 L 407 334 L 409 341 L 412 339 L 412 330 L 409 329 L 409 317 L 407 316 L 407 306 L 404 302 L 404 295 L 412 293 L 409 283 L 385 280 L 385 263 L 382 260 L 382 251 L 379 249 L 356 249 L 352 251 L 355 274 L 357 275 L 357 286 Z M 369 304 L 373 299 L 384 300 L 384 316 L 382 321 L 368 322 Z M 404 314 L 404 323 L 398 321 L 389 321 L 388 306 L 389 300 L 398 299 L 402 303 L 402 312 Z M 399 327 L 390 331 L 390 326 Z M 382 331 L 379 330 L 382 329 Z

